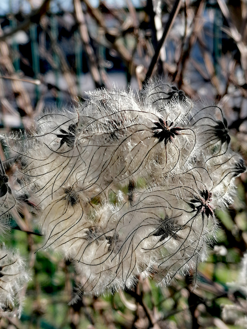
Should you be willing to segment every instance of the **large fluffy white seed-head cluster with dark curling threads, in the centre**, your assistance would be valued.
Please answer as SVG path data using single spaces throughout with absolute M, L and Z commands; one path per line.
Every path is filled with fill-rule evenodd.
M 80 292 L 131 288 L 140 276 L 169 284 L 206 258 L 214 211 L 246 170 L 218 106 L 160 79 L 139 94 L 96 90 L 36 124 L 6 137 L 21 163 L 14 198 L 28 198 L 42 248 L 74 262 Z

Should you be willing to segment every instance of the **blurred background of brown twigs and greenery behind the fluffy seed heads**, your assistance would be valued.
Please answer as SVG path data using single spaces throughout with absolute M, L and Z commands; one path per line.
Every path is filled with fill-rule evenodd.
M 29 130 L 44 108 L 76 105 L 95 88 L 140 90 L 163 35 L 153 76 L 220 104 L 232 147 L 247 159 L 246 22 L 245 0 L 2 0 L 1 132 Z M 14 167 L 6 167 L 14 184 Z M 140 278 L 131 291 L 73 305 L 80 280 L 59 254 L 39 250 L 39 228 L 23 203 L 1 240 L 20 249 L 32 280 L 21 317 L 3 317 L 0 328 L 247 328 L 246 173 L 236 185 L 234 204 L 216 213 L 218 240 L 196 276 L 177 276 L 169 287 Z

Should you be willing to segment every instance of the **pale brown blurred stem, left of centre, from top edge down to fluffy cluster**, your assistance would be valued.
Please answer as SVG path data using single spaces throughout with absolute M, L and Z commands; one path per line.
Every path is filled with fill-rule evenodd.
M 80 0 L 74 0 L 74 9 L 75 9 L 76 20 L 79 24 L 79 31 L 80 31 L 81 39 L 84 44 L 84 49 L 87 53 L 87 57 L 88 57 L 88 61 L 89 61 L 89 69 L 90 69 L 90 72 L 94 79 L 95 86 L 96 86 L 96 88 L 103 87 L 104 84 L 100 77 L 94 50 L 90 44 L 90 38 L 88 35 L 88 29 L 87 29 L 87 25 L 86 25 L 85 15 L 82 11 Z

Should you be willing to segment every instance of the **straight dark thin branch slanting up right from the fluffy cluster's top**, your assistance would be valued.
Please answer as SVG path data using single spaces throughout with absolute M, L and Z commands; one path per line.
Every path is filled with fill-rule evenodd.
M 149 78 L 151 78 L 151 76 L 152 76 L 154 67 L 155 67 L 155 65 L 157 63 L 157 60 L 159 58 L 159 53 L 160 53 L 161 47 L 163 46 L 163 43 L 165 42 L 165 40 L 166 40 L 166 38 L 169 34 L 169 31 L 171 30 L 171 28 L 173 26 L 174 20 L 175 20 L 177 14 L 178 14 L 178 11 L 179 11 L 179 8 L 180 8 L 180 4 L 181 4 L 181 0 L 176 0 L 174 5 L 173 5 L 173 9 L 172 9 L 172 11 L 169 15 L 169 18 L 168 18 L 168 21 L 166 23 L 166 27 L 164 29 L 162 38 L 158 42 L 157 48 L 155 49 L 155 53 L 153 55 L 153 58 L 151 60 L 150 65 L 149 65 L 149 69 L 148 69 L 148 72 L 146 74 L 146 78 L 143 81 L 144 84 L 147 83 Z

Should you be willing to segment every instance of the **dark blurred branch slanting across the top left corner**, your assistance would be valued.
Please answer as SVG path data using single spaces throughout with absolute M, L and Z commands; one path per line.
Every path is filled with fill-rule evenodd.
M 44 0 L 42 5 L 39 8 L 33 10 L 31 14 L 26 19 L 24 19 L 22 23 L 18 24 L 10 32 L 0 35 L 0 41 L 6 40 L 6 38 L 13 36 L 16 32 L 19 32 L 20 30 L 25 30 L 30 25 L 30 23 L 39 23 L 41 16 L 47 12 L 49 3 L 50 0 Z

